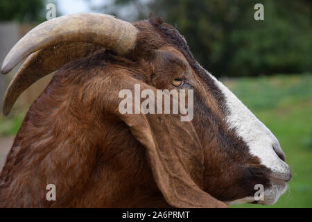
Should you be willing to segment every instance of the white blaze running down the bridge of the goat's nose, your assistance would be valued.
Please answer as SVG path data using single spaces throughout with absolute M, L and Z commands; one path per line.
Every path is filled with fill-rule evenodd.
M 214 76 L 211 75 L 211 78 L 214 78 Z M 273 146 L 275 146 L 276 149 L 281 150 L 277 138 L 225 85 L 216 78 L 214 80 L 223 92 L 229 109 L 229 114 L 226 117 L 229 129 L 235 130 L 236 134 L 250 148 L 250 153 L 259 157 L 261 164 L 274 172 L 281 173 L 282 179 L 288 179 L 290 169 L 273 149 Z

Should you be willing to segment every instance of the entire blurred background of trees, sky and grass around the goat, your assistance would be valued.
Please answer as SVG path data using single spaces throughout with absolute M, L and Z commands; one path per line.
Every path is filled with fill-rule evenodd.
M 0 64 L 11 47 L 51 15 L 103 12 L 128 22 L 162 17 L 184 37 L 200 64 L 270 128 L 293 171 L 269 207 L 312 207 L 312 28 L 309 0 L 1 0 Z M 263 19 L 254 19 L 256 3 Z M 0 76 L 0 100 L 12 76 Z M 29 106 L 49 83 L 35 83 L 0 117 L 0 171 Z M 234 205 L 232 207 L 268 207 Z

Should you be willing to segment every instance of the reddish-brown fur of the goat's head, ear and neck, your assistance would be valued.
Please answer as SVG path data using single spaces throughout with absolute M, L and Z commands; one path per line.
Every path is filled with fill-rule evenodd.
M 60 69 L 33 103 L 0 178 L 0 207 L 226 207 L 269 170 L 229 130 L 223 94 L 177 31 L 137 22 L 127 56 L 98 51 Z M 194 119 L 120 114 L 121 89 L 194 89 Z M 56 201 L 46 200 L 46 185 Z

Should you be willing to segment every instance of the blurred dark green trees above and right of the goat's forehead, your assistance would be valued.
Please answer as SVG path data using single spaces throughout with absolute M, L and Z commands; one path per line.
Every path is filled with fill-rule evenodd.
M 254 5 L 264 6 L 264 21 Z M 112 7 L 114 6 L 114 7 Z M 123 19 L 151 13 L 175 26 L 196 59 L 216 76 L 311 71 L 311 3 L 307 0 L 115 0 Z

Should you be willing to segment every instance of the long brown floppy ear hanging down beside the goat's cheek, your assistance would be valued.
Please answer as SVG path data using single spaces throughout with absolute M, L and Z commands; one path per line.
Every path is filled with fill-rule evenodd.
M 129 89 L 132 95 L 135 84 L 140 84 L 141 91 L 151 89 L 156 95 L 155 87 L 135 78 L 123 76 L 110 84 L 114 89 Z M 116 100 L 122 100 L 119 92 L 109 95 L 105 103 L 114 104 L 113 112 L 146 148 L 153 176 L 167 203 L 173 207 L 227 207 L 202 190 L 204 155 L 190 121 L 181 121 L 180 114 L 121 114 L 116 108 Z

